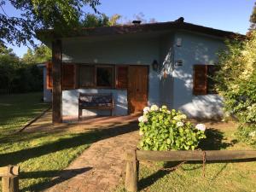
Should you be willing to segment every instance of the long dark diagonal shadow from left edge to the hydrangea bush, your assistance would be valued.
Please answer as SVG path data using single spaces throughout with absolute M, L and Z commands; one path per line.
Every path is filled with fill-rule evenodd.
M 20 151 L 0 154 L 0 166 L 8 166 L 10 164 L 16 165 L 25 160 L 36 158 L 44 154 L 51 154 L 66 148 L 75 148 L 84 144 L 95 143 L 102 139 L 115 137 L 136 130 L 137 123 L 131 122 L 129 125 L 120 125 L 114 128 L 73 134 L 73 137 L 61 138 L 53 143 L 47 143 L 35 148 L 26 148 Z

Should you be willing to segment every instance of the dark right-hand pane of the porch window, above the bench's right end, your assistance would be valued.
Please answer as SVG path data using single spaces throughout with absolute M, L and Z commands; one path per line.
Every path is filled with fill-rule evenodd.
M 113 87 L 113 67 L 96 66 L 96 86 Z

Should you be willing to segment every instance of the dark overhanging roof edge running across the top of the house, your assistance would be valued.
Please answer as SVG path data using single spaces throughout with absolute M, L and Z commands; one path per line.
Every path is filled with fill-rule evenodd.
M 244 35 L 227 32 L 219 29 L 214 29 L 207 26 L 199 26 L 192 23 L 183 22 L 183 17 L 168 22 L 146 23 L 140 25 L 120 25 L 120 26 L 101 26 L 81 28 L 81 30 L 73 30 L 67 34 L 57 35 L 53 29 L 38 30 L 37 36 L 39 39 L 48 38 L 70 38 L 70 37 L 87 37 L 87 36 L 102 36 L 102 35 L 118 35 L 138 32 L 160 32 L 170 30 L 185 30 L 191 32 L 200 32 L 207 35 L 212 35 L 220 38 L 244 38 Z

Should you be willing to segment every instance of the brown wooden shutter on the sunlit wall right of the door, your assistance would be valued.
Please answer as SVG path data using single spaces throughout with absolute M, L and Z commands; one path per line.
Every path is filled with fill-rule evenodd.
M 207 65 L 194 66 L 194 95 L 207 94 Z

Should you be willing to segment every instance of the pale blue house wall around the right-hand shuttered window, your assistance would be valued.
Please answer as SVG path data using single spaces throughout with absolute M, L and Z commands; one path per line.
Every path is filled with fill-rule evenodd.
M 182 46 L 174 45 L 174 62 L 183 61 L 183 66 L 174 66 L 173 108 L 187 113 L 189 117 L 213 118 L 222 115 L 222 98 L 216 94 L 193 95 L 193 65 L 214 64 L 218 61 L 216 53 L 224 49 L 224 41 L 190 32 L 177 32 L 182 38 Z

